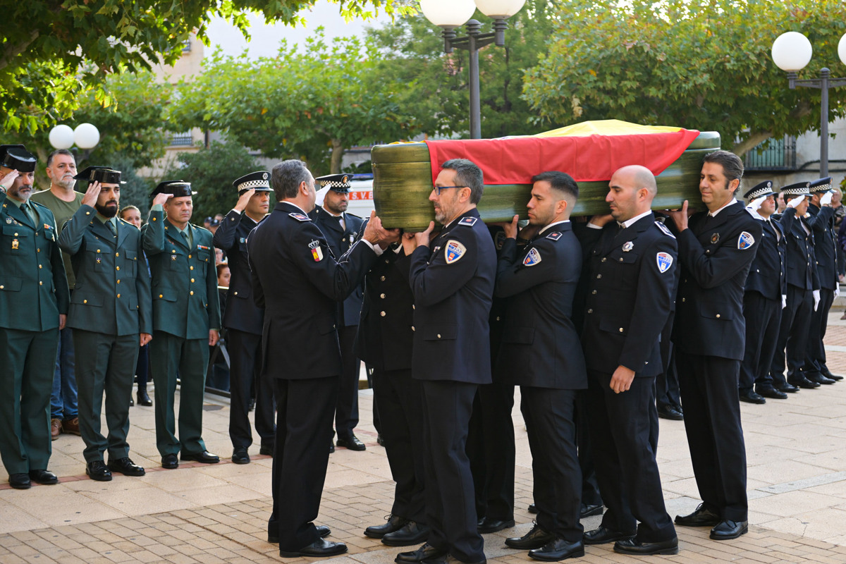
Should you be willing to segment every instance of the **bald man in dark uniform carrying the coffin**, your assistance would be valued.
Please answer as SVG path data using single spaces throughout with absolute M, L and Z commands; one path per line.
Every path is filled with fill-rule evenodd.
M 634 555 L 678 553 L 656 463 L 655 401 L 678 263 L 676 239 L 651 211 L 657 191 L 648 168 L 614 172 L 605 200 L 616 221 L 604 224 L 594 244 L 584 241 L 590 249 L 582 331 L 589 429 L 608 508 L 599 528 L 585 533 L 585 544 L 616 541 L 615 552 Z M 595 217 L 588 227 L 603 220 Z

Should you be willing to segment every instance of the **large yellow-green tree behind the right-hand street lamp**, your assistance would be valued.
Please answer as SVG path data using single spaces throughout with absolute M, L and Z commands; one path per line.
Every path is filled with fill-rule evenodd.
M 547 55 L 526 72 L 536 123 L 617 118 L 716 130 L 739 154 L 819 129 L 820 91 L 788 89 L 772 41 L 805 33 L 815 53 L 801 75 L 817 76 L 838 60 L 846 31 L 839 0 L 572 0 L 560 9 Z M 831 96 L 829 119 L 846 115 L 846 91 Z

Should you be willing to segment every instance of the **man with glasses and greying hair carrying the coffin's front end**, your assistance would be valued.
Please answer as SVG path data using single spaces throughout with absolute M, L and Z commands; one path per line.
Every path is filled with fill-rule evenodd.
M 409 282 L 415 296 L 413 378 L 423 386 L 426 441 L 426 524 L 429 540 L 397 561 L 448 558 L 485 561 L 477 531 L 473 476 L 465 452 L 473 398 L 491 382 L 488 315 L 496 277 L 497 252 L 476 204 L 484 182 L 466 159 L 444 162 L 429 200 L 444 227 L 403 238 L 411 256 Z

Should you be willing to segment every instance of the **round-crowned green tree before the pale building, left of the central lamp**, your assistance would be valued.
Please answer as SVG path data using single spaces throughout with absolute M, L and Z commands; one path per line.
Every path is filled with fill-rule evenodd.
M 398 103 L 402 85 L 375 74 L 376 64 L 371 41 L 342 37 L 330 44 L 321 28 L 301 51 L 282 41 L 277 57 L 217 52 L 200 76 L 180 83 L 170 119 L 184 129 L 222 131 L 268 157 L 303 158 L 316 171 L 340 172 L 344 149 L 417 130 Z

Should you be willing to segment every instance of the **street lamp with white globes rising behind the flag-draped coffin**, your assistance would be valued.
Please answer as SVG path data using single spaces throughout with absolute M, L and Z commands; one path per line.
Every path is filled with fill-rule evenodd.
M 442 28 L 443 52 L 470 52 L 470 139 L 481 139 L 479 101 L 479 49 L 489 43 L 505 46 L 507 19 L 523 8 L 525 0 L 420 0 L 420 10 L 432 24 Z M 493 19 L 493 33 L 481 33 L 481 22 L 470 19 L 475 9 Z M 469 21 L 468 21 L 469 20 Z M 456 37 L 455 29 L 467 25 L 467 36 Z

